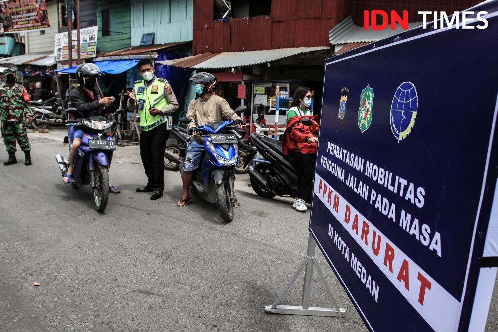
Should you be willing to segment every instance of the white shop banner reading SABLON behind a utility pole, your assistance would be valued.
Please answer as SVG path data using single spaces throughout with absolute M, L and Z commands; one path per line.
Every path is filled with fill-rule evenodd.
M 73 59 L 78 57 L 76 30 L 72 30 L 72 50 Z M 55 59 L 57 61 L 68 61 L 69 59 L 69 44 L 67 32 L 58 33 L 55 35 Z M 97 26 L 80 29 L 80 57 L 82 59 L 95 58 L 97 52 Z

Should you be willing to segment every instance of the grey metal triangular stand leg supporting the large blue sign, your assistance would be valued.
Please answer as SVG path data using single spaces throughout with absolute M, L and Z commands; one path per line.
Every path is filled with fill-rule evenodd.
M 329 317 L 345 317 L 346 310 L 344 308 L 339 308 L 336 300 L 334 299 L 334 295 L 332 295 L 332 291 L 330 290 L 329 284 L 325 280 L 325 277 L 318 265 L 318 262 L 315 258 L 315 249 L 316 243 L 311 234 L 308 237 L 308 252 L 306 253 L 306 258 L 301 263 L 299 268 L 296 270 L 292 278 L 290 278 L 287 286 L 283 290 L 283 292 L 278 296 L 275 302 L 271 306 L 264 307 L 264 310 L 267 313 L 272 314 L 287 314 L 287 315 L 309 315 L 309 316 L 329 316 Z M 302 270 L 306 267 L 306 271 L 304 273 L 304 285 L 303 285 L 303 296 L 301 300 L 300 306 L 285 306 L 280 305 L 282 299 L 287 295 L 288 291 L 291 289 L 292 285 L 296 281 L 297 277 L 301 274 Z M 329 294 L 330 301 L 332 302 L 333 308 L 325 308 L 325 307 L 310 307 L 310 295 L 311 295 L 311 282 L 313 280 L 313 267 L 316 267 L 318 274 L 320 275 L 320 279 L 322 279 L 322 283 Z

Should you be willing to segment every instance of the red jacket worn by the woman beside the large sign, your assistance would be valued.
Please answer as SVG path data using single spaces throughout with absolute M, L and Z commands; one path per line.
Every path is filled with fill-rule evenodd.
M 304 125 L 301 119 L 313 119 L 313 125 Z M 289 119 L 287 128 L 283 134 L 282 150 L 284 154 L 302 153 L 316 154 L 318 150 L 317 143 L 306 143 L 308 138 L 318 135 L 319 125 L 317 122 L 318 116 L 294 116 Z

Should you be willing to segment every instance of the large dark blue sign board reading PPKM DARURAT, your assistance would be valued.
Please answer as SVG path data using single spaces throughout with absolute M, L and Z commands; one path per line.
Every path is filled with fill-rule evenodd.
M 497 166 L 485 9 L 486 29 L 419 28 L 326 62 L 310 232 L 371 331 L 467 330 Z

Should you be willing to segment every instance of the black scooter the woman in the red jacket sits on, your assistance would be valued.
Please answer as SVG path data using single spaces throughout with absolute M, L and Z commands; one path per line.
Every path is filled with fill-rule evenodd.
M 304 125 L 313 125 L 311 119 L 301 120 Z M 282 142 L 270 137 L 253 133 L 252 142 L 265 160 L 255 167 L 249 166 L 249 177 L 252 189 L 261 197 L 272 198 L 275 196 L 297 196 L 299 172 L 297 164 L 288 155 L 283 154 Z M 310 184 L 313 186 L 313 183 Z M 305 202 L 311 203 L 313 194 L 301 197 Z

